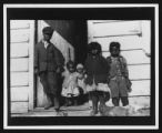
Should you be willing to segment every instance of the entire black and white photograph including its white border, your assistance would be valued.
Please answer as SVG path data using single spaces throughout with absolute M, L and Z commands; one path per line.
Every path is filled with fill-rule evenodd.
M 6 129 L 156 129 L 158 8 L 3 4 Z

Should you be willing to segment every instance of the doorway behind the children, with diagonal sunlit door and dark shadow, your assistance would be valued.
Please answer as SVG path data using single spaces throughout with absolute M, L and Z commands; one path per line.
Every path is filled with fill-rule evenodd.
M 51 42 L 62 52 L 65 63 L 73 60 L 77 63 L 84 63 L 87 58 L 88 30 L 87 20 L 38 20 L 36 22 L 36 41 L 42 39 L 44 27 L 54 29 Z M 39 76 L 36 78 L 34 106 L 42 108 L 49 103 L 43 92 Z

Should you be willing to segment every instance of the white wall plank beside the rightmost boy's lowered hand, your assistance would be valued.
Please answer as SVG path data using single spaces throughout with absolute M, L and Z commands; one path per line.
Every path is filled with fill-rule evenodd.
M 151 91 L 150 80 L 132 81 L 132 92 L 129 93 L 129 95 L 130 96 L 151 95 L 150 91 Z

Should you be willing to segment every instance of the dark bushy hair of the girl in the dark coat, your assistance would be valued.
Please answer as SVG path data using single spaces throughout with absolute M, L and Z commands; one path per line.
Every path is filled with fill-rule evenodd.
M 88 50 L 89 50 L 89 53 L 92 51 L 92 50 L 98 50 L 98 54 L 101 53 L 101 44 L 99 42 L 90 42 L 88 44 Z

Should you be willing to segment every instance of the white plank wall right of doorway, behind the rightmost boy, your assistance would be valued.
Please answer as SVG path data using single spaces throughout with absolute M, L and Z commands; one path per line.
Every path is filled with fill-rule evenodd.
M 151 22 L 144 20 L 90 20 L 88 21 L 88 41 L 97 41 L 102 45 L 103 57 L 110 55 L 112 41 L 121 43 L 121 54 L 126 59 L 132 92 L 130 104 L 150 106 L 150 53 Z

